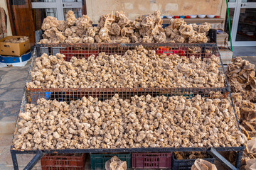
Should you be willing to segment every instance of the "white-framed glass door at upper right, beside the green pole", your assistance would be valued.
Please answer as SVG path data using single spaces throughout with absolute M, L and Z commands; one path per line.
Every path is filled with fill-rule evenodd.
M 229 0 L 228 9 L 233 46 L 256 46 L 256 0 Z

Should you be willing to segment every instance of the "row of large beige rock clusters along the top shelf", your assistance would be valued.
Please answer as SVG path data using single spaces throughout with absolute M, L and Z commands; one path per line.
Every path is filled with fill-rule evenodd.
M 170 26 L 162 28 L 163 21 L 160 14 L 160 11 L 155 11 L 148 16 L 139 16 L 132 21 L 125 16 L 124 12 L 116 11 L 114 13 L 112 11 L 100 16 L 97 27 L 93 27 L 88 16 L 82 15 L 77 19 L 73 11 L 68 11 L 66 21 L 58 21 L 52 17 L 45 19 L 42 26 L 45 33 L 40 43 L 205 43 L 208 41 L 206 37 L 210 29 L 208 23 L 203 23 L 200 26 L 187 25 L 182 18 L 178 18 L 171 19 Z M 80 40 L 76 37 L 80 37 Z M 176 39 L 174 40 L 174 38 Z

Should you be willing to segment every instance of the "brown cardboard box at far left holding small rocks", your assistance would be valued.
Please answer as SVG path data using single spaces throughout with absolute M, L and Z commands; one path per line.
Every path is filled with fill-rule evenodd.
M 29 40 L 21 43 L 4 42 L 4 40 L 23 38 L 24 36 L 8 36 L 0 40 L 0 55 L 21 56 L 31 49 Z

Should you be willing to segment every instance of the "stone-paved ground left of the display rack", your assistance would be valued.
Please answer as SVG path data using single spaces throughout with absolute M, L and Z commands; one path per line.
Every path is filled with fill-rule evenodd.
M 21 104 L 23 88 L 28 76 L 29 63 L 25 67 L 0 68 L 0 169 L 14 169 L 10 146 L 15 122 Z M 33 155 L 18 155 L 19 168 L 23 169 Z M 40 164 L 34 169 L 41 169 Z

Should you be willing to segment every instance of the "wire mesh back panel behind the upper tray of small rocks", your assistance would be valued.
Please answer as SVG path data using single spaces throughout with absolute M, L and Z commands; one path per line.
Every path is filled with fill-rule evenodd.
M 157 55 L 177 54 L 180 56 L 191 57 L 210 57 L 211 55 L 220 56 L 218 47 L 215 43 L 108 43 L 108 44 L 36 44 L 38 57 L 46 53 L 55 55 L 61 53 L 65 55 L 65 60 L 69 61 L 71 57 L 87 58 L 90 55 L 97 55 L 105 52 L 106 55 L 124 55 L 127 50 L 134 50 L 142 45 L 146 50 L 156 50 Z

